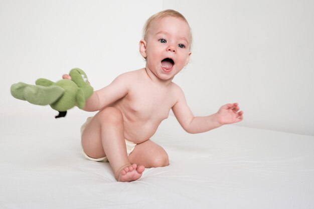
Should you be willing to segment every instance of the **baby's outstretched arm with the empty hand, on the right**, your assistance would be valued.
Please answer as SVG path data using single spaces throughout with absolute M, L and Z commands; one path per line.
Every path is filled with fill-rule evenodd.
M 180 89 L 178 101 L 172 110 L 181 126 L 189 133 L 202 133 L 225 124 L 240 122 L 243 112 L 239 111 L 238 103 L 225 104 L 217 113 L 205 117 L 195 117 L 188 107 L 184 93 Z

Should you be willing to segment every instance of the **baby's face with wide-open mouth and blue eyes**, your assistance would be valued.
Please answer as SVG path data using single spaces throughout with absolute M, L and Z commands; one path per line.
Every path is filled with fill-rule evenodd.
M 173 79 L 189 62 L 191 31 L 180 18 L 165 17 L 152 23 L 147 31 L 146 68 L 163 80 Z

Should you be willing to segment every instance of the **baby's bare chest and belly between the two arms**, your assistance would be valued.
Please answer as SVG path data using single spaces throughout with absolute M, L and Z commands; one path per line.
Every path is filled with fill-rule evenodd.
M 168 118 L 176 103 L 174 95 L 178 88 L 174 83 L 153 83 L 145 69 L 132 71 L 132 85 L 128 93 L 110 106 L 123 114 L 124 136 L 127 140 L 141 143 L 149 139 L 160 123 Z

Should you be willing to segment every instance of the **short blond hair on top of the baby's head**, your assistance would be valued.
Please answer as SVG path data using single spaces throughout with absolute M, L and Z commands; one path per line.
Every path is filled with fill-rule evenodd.
M 144 27 L 143 27 L 143 39 L 146 40 L 146 36 L 147 36 L 147 31 L 150 28 L 151 24 L 156 21 L 156 20 L 160 20 L 164 17 L 174 17 L 174 18 L 180 18 L 182 20 L 184 20 L 189 28 L 190 28 L 190 32 L 191 32 L 191 43 L 190 43 L 190 47 L 192 46 L 192 30 L 191 27 L 187 21 L 187 19 L 179 12 L 175 11 L 175 10 L 164 10 L 162 12 L 156 13 L 153 16 L 151 16 L 150 18 L 148 18 L 148 20 L 146 21 Z

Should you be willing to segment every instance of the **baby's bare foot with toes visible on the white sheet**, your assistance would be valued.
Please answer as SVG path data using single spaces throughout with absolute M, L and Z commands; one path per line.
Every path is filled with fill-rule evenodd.
M 142 165 L 137 166 L 136 164 L 129 164 L 129 165 L 125 165 L 122 166 L 118 172 L 117 172 L 117 176 L 116 179 L 118 181 L 135 181 L 138 178 L 140 178 L 140 176 L 142 176 L 143 171 L 145 170 L 145 167 Z

